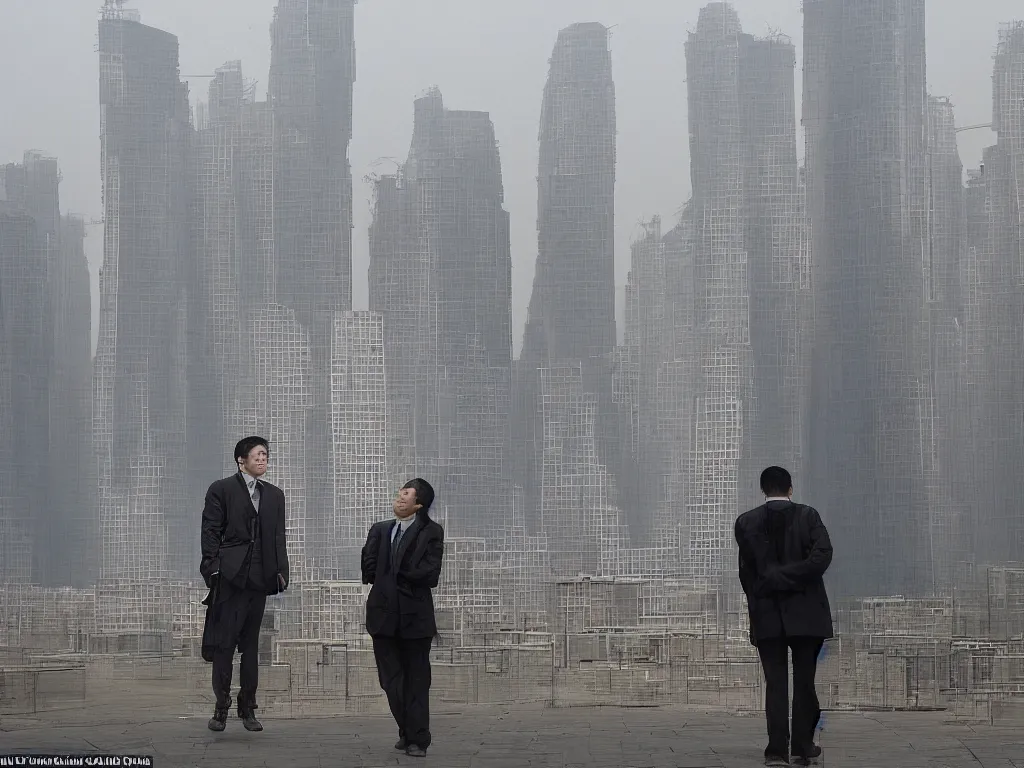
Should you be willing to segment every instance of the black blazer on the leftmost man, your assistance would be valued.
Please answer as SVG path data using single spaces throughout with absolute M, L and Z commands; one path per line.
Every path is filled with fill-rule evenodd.
M 260 526 L 260 552 L 263 556 L 263 577 L 268 595 L 281 589 L 278 574 L 288 586 L 288 550 L 285 546 L 285 494 L 276 485 L 256 481 L 260 489 L 259 514 L 253 507 L 242 473 L 217 480 L 206 492 L 203 507 L 203 560 L 199 570 L 207 587 L 212 577 L 244 587 L 244 566 L 249 556 L 256 525 Z

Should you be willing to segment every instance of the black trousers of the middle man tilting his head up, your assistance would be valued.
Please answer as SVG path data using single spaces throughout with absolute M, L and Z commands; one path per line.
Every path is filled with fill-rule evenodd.
M 374 637 L 377 677 L 398 736 L 430 746 L 430 643 L 433 638 Z

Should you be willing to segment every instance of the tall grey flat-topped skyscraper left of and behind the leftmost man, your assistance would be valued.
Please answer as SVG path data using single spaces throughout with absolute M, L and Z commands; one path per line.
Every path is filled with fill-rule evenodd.
M 106 9 L 99 23 L 104 213 L 94 438 L 100 582 L 125 588 L 196 567 L 185 472 L 186 86 L 177 39 Z M 104 606 L 110 629 L 144 602 Z M 144 623 L 144 622 L 143 622 Z

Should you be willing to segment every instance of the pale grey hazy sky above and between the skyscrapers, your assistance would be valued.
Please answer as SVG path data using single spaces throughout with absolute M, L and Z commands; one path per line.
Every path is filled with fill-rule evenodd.
M 99 109 L 96 23 L 100 0 L 0 0 L 0 162 L 25 150 L 56 156 L 61 209 L 96 219 Z M 367 307 L 370 185 L 364 177 L 406 158 L 413 98 L 432 85 L 446 105 L 490 113 L 501 143 L 506 208 L 512 217 L 515 345 L 521 342 L 537 258 L 537 158 L 541 97 L 558 30 L 578 22 L 612 27 L 617 96 L 615 261 L 620 317 L 629 244 L 637 222 L 660 214 L 669 228 L 689 195 L 683 42 L 705 2 L 696 0 L 360 0 L 354 136 L 353 303 Z M 143 24 L 177 35 L 181 73 L 193 99 L 206 99 L 210 75 L 242 59 L 265 96 L 269 26 L 275 0 L 135 0 Z M 799 48 L 800 0 L 735 0 L 743 29 L 778 31 Z M 929 0 L 932 93 L 948 95 L 958 125 L 991 119 L 992 52 L 1011 0 Z M 799 94 L 799 90 L 798 90 Z M 797 108 L 800 99 L 798 95 Z M 961 135 L 965 165 L 991 143 L 988 130 Z M 93 279 L 100 227 L 88 243 Z M 96 301 L 93 301 L 95 310 Z

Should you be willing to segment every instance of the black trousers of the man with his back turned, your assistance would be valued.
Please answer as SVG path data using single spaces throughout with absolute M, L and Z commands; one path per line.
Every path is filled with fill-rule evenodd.
M 790 757 L 790 649 L 793 649 L 793 754 L 806 757 L 814 743 L 814 729 L 821 717 L 814 674 L 823 644 L 824 640 L 817 637 L 781 637 L 758 643 L 765 673 L 766 757 Z

